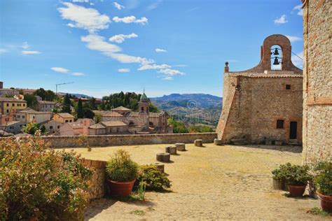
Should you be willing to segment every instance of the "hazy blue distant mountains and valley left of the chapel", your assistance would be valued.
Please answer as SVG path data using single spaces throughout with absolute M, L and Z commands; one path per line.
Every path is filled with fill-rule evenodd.
M 222 108 L 222 97 L 211 94 L 170 94 L 152 97 L 151 102 L 166 110 L 187 125 L 209 124 L 216 126 Z

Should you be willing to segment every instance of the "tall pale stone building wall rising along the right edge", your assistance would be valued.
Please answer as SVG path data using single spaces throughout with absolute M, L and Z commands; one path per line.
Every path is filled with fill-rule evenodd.
M 331 0 L 303 0 L 303 162 L 332 159 Z

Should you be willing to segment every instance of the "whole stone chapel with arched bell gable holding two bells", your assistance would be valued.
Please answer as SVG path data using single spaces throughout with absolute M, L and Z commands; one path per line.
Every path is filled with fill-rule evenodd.
M 286 36 L 268 36 L 261 62 L 223 78 L 217 133 L 223 143 L 302 143 L 303 73 L 291 62 Z

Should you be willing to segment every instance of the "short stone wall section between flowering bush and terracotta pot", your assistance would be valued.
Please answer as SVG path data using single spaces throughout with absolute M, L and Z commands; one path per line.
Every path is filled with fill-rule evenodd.
M 82 163 L 92 171 L 92 177 L 88 180 L 88 193 L 90 200 L 99 199 L 106 194 L 106 162 L 101 160 L 82 159 Z

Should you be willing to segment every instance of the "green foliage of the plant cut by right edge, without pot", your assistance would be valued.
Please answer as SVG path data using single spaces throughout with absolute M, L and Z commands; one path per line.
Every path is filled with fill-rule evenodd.
M 318 187 L 318 191 L 326 196 L 332 196 L 332 162 L 319 162 L 314 166 L 317 173 L 314 176 L 314 185 Z

